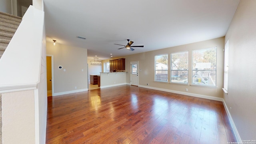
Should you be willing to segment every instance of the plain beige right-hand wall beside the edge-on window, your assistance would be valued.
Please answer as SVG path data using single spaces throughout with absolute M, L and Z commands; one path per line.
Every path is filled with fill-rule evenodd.
M 229 40 L 228 95 L 224 100 L 242 140 L 256 138 L 256 1 L 240 0 Z

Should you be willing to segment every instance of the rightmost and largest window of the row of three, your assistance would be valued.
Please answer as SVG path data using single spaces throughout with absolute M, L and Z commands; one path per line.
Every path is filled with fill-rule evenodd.
M 216 47 L 193 50 L 192 84 L 216 86 L 216 53 Z

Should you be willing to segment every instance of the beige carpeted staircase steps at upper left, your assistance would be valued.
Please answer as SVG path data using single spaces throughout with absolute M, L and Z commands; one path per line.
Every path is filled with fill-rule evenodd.
M 0 12 L 0 58 L 4 54 L 22 18 Z

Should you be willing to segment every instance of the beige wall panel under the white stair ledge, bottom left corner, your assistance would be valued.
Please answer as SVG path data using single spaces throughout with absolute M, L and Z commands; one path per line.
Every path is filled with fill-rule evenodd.
M 2 94 L 3 144 L 35 144 L 34 90 Z

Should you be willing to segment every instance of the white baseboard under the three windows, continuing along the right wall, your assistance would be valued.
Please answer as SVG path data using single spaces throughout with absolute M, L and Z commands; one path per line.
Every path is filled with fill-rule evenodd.
M 206 95 L 201 95 L 201 94 L 193 94 L 193 93 L 188 93 L 188 92 L 180 92 L 180 91 L 176 91 L 176 90 L 167 90 L 167 89 L 164 89 L 164 88 L 155 88 L 155 87 L 143 86 L 143 85 L 139 85 L 139 87 L 149 88 L 149 89 L 153 89 L 153 90 L 160 90 L 160 91 L 164 91 L 164 92 L 172 92 L 172 93 L 175 93 L 175 94 L 183 94 L 183 95 L 186 95 L 186 96 L 194 96 L 194 97 L 198 97 L 198 98 L 205 98 L 205 99 L 209 99 L 209 100 L 217 100 L 217 101 L 223 102 L 226 113 L 228 115 L 228 120 L 229 120 L 230 125 L 233 129 L 236 140 L 238 142 L 242 142 L 242 140 L 240 138 L 240 135 L 238 133 L 238 130 L 236 129 L 236 125 L 235 125 L 235 123 L 232 119 L 232 116 L 231 116 L 231 114 L 228 110 L 228 106 L 226 105 L 226 102 L 224 101 L 223 98 L 218 98 L 218 97 L 214 97 L 214 96 L 206 96 Z

